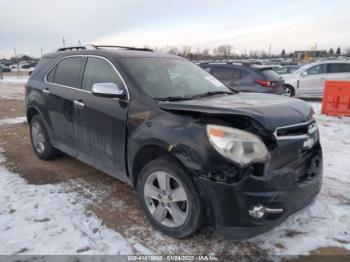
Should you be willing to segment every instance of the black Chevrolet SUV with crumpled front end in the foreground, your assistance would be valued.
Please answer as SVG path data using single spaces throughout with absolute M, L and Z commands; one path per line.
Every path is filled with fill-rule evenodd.
M 76 49 L 43 56 L 26 85 L 33 149 L 129 183 L 165 234 L 209 223 L 226 238 L 252 237 L 318 194 L 322 151 L 308 103 L 233 93 L 173 55 Z

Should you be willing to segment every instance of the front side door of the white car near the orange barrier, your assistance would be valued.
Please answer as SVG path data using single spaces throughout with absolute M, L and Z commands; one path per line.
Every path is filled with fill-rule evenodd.
M 299 94 L 319 96 L 323 94 L 324 82 L 328 76 L 327 64 L 315 65 L 305 71 L 306 75 L 300 75 Z

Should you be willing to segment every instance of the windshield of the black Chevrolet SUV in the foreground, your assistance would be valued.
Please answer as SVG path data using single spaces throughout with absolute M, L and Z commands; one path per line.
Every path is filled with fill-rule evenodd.
M 195 64 L 177 58 L 122 58 L 124 67 L 154 99 L 231 91 Z

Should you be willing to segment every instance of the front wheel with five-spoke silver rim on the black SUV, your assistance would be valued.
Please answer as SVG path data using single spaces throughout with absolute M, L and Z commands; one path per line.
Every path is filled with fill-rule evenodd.
M 169 181 L 168 187 L 162 181 Z M 193 180 L 171 157 L 155 159 L 141 170 L 137 194 L 149 222 L 170 237 L 188 237 L 204 222 L 203 208 Z

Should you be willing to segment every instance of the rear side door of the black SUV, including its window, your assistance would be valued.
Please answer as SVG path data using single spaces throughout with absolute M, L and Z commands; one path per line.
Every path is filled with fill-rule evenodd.
M 72 156 L 77 152 L 73 132 L 73 100 L 80 85 L 82 64 L 82 57 L 63 58 L 46 76 L 46 88 L 43 90 L 52 143 Z

